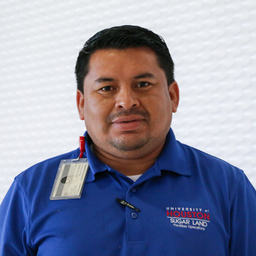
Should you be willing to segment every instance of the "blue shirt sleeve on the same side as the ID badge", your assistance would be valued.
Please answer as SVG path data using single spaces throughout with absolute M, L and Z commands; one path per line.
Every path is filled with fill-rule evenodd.
M 27 246 L 29 203 L 14 180 L 0 206 L 0 255 L 36 255 Z

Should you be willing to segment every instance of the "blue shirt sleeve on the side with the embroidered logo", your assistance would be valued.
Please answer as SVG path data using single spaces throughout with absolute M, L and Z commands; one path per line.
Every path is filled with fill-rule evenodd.
M 256 191 L 243 174 L 230 212 L 230 256 L 256 255 Z

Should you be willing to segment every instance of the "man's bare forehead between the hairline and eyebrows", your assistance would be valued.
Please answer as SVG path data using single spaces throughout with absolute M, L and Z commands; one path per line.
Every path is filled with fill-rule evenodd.
M 111 72 L 114 74 L 136 72 L 163 72 L 156 53 L 148 47 L 125 49 L 100 49 L 92 53 L 88 75 Z

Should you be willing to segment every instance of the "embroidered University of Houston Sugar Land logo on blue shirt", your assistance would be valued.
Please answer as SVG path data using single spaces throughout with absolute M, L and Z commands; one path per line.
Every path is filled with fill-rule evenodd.
M 191 207 L 166 207 L 167 218 L 175 227 L 205 230 L 210 223 L 208 209 Z

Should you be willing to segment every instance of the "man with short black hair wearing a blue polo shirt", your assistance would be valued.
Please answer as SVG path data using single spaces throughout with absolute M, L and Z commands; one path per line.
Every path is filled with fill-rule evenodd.
M 81 143 L 15 178 L 0 208 L 1 255 L 254 255 L 255 189 L 170 129 L 179 89 L 164 40 L 137 26 L 100 31 L 75 71 L 86 152 Z M 86 158 L 81 194 L 63 196 L 70 166 L 80 161 L 82 176 Z

